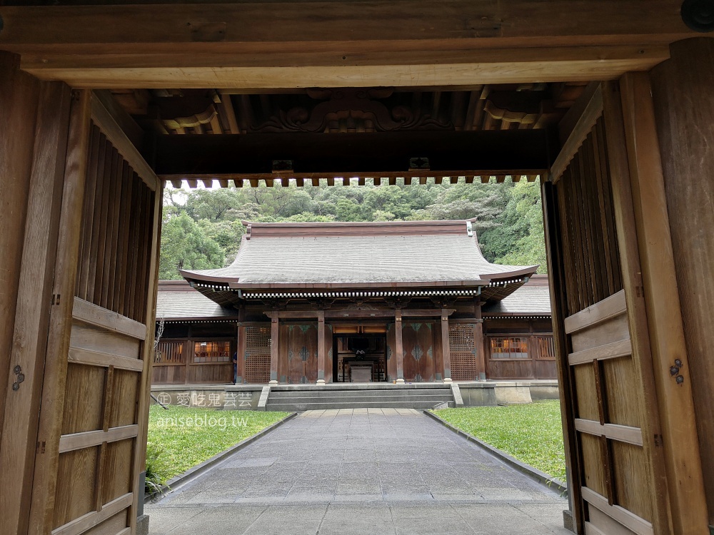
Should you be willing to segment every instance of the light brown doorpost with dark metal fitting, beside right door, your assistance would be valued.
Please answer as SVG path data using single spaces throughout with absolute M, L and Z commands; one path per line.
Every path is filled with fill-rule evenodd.
M 620 128 L 624 128 L 627 145 L 642 277 L 640 290 L 644 295 L 649 330 L 673 532 L 677 535 L 701 533 L 706 529 L 708 516 L 694 416 L 692 372 L 648 73 L 623 76 L 620 91 L 623 110 Z M 693 180 L 699 178 L 693 177 Z M 692 255 L 698 251 L 687 253 Z M 673 367 L 677 368 L 674 374 L 670 372 Z

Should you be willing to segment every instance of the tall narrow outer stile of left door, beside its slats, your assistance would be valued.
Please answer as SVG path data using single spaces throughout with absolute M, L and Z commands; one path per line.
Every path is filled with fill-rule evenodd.
M 51 294 L 59 302 L 51 307 L 40 410 L 38 457 L 31 502 L 30 534 L 51 529 L 59 461 L 61 416 L 64 412 L 67 352 L 72 323 L 79 234 L 90 132 L 90 91 L 74 91 L 69 121 L 64 189 Z M 7 493 L 6 493 L 7 494 Z

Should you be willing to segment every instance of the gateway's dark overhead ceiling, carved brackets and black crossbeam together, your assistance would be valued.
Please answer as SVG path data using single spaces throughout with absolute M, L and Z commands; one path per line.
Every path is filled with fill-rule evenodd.
M 336 176 L 376 184 L 535 180 L 548 166 L 546 132 L 584 88 L 575 82 L 111 94 L 141 130 L 156 136 L 161 178 L 176 186 L 215 179 L 240 187 L 287 185 L 291 178 L 298 185 L 333 184 Z M 389 158 L 376 156 L 377 147 Z

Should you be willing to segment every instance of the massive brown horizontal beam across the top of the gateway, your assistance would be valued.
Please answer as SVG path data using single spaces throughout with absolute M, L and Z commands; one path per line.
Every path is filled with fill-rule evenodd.
M 602 80 L 651 68 L 692 35 L 675 0 L 414 1 L 408 13 L 398 0 L 6 6 L 0 16 L 0 48 L 21 53 L 26 71 L 93 88 Z M 289 24 L 256 24 L 274 20 Z

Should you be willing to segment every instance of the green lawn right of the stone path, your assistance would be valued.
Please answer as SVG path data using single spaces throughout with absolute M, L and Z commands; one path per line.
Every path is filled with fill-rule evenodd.
M 453 427 L 565 481 L 563 429 L 557 400 L 507 407 L 440 409 L 434 413 Z

